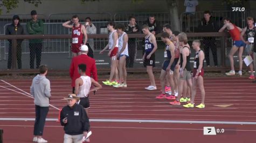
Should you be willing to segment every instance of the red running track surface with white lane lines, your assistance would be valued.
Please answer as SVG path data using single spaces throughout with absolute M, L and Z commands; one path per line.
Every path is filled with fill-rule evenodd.
M 31 79 L 32 80 L 32 79 Z M 0 128 L 4 143 L 32 142 L 34 104 L 31 80 L 0 81 Z M 246 78 L 205 78 L 206 108 L 170 106 L 146 91 L 147 79 L 129 79 L 128 88 L 103 88 L 90 96 L 91 142 L 255 142 L 256 84 Z M 58 108 L 71 93 L 70 80 L 51 80 L 52 99 L 44 130 L 49 142 L 63 142 L 63 127 L 56 122 Z M 200 94 L 196 96 L 200 103 Z M 204 136 L 204 126 L 224 129 Z

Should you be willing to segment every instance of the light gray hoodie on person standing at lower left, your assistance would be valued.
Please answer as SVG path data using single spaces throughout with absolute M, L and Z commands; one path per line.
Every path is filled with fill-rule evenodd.
M 30 93 L 34 97 L 34 104 L 40 107 L 49 107 L 49 97 L 51 97 L 50 80 L 38 74 L 33 78 Z

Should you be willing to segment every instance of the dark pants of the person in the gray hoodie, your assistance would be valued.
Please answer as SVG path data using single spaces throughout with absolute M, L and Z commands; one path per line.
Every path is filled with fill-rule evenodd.
M 36 121 L 34 121 L 34 136 L 43 136 L 45 119 L 49 107 L 40 107 L 36 105 Z

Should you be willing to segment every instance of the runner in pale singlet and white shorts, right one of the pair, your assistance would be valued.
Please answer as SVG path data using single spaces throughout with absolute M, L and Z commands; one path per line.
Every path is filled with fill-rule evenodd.
M 119 34 L 119 43 L 118 43 L 118 54 L 117 59 L 119 61 L 119 79 L 120 82 L 114 87 L 127 87 L 126 78 L 126 58 L 129 57 L 128 54 L 128 35 L 124 32 L 125 26 L 123 24 L 118 24 L 116 26 L 117 33 Z M 121 81 L 121 79 L 123 81 Z

